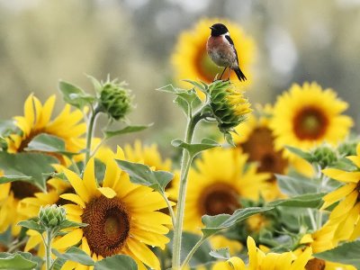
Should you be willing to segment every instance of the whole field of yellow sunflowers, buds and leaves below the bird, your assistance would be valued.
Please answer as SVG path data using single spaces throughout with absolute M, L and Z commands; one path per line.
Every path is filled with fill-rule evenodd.
M 217 79 L 205 44 L 218 22 L 245 82 Z M 137 97 L 110 76 L 60 80 L 0 121 L 0 269 L 360 269 L 347 101 L 315 81 L 252 100 L 257 40 L 238 23 L 201 19 L 176 40 L 172 83 L 153 90 L 186 122 L 162 141 L 171 153 L 138 138 L 152 126 L 130 121 Z

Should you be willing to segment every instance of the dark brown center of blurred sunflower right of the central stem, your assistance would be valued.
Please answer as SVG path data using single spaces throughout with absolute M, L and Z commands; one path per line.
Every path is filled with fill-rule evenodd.
M 234 188 L 229 184 L 211 184 L 200 196 L 202 214 L 211 216 L 221 213 L 232 214 L 240 206 L 238 193 L 234 192 Z

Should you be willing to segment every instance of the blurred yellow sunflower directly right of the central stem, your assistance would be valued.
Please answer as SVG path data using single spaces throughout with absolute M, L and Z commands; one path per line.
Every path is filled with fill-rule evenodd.
M 189 172 L 184 229 L 198 231 L 202 215 L 232 214 L 241 208 L 240 198 L 257 200 L 267 187 L 265 173 L 247 165 L 247 155 L 226 148 L 203 152 Z

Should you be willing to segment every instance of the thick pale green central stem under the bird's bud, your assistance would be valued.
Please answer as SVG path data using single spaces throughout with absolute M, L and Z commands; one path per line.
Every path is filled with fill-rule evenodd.
M 193 131 L 198 121 L 201 120 L 201 112 L 196 112 L 193 117 L 187 121 L 185 142 L 191 143 L 193 140 Z M 189 174 L 189 169 L 193 157 L 190 156 L 190 153 L 183 149 L 183 157 L 181 161 L 181 171 L 180 171 L 180 187 L 179 193 L 177 196 L 177 207 L 176 207 L 176 218 L 175 218 L 175 227 L 174 227 L 174 241 L 173 241 L 173 270 L 180 269 L 181 266 L 181 238 L 183 232 L 183 221 L 184 221 L 184 204 L 185 204 L 185 195 L 186 195 L 186 184 L 187 184 L 187 175 Z

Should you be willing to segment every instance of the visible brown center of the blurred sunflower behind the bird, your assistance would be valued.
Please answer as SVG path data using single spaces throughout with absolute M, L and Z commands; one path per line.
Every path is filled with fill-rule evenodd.
M 222 72 L 219 67 L 212 63 L 211 58 L 208 56 L 205 48 L 202 49 L 199 47 L 197 55 L 194 58 L 194 64 L 199 75 L 201 75 L 202 79 L 207 82 L 212 82 L 216 74 Z

